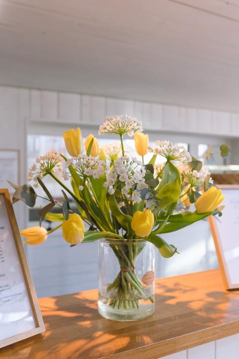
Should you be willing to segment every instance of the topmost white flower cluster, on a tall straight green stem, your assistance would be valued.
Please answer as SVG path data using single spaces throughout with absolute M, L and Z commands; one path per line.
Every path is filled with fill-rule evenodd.
M 142 123 L 128 115 L 125 115 L 125 118 L 122 115 L 106 116 L 105 120 L 99 128 L 99 135 L 109 133 L 122 136 L 127 134 L 132 137 L 135 132 L 143 131 Z

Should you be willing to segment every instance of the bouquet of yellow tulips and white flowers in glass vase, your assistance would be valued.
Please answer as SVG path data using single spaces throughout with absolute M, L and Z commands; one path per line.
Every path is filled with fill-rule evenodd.
M 192 158 L 184 147 L 173 146 L 169 141 L 156 141 L 155 147 L 149 147 L 148 135 L 143 134 L 142 124 L 135 118 L 107 116 L 99 128 L 99 135 L 104 134 L 118 135 L 119 143 L 99 148 L 97 138 L 90 134 L 84 144 L 80 128 L 71 129 L 63 133 L 70 158 L 52 150 L 36 159 L 28 180 L 34 181 L 34 187 L 41 186 L 46 205 L 40 209 L 39 226 L 24 229 L 21 234 L 27 244 L 44 242 L 59 227 L 72 246 L 107 238 L 102 245 L 107 259 L 102 263 L 111 272 L 107 261 L 114 255 L 118 274 L 110 281 L 101 281 L 104 290 L 100 289 L 99 303 L 104 310 L 100 313 L 113 319 L 141 319 L 153 313 L 154 303 L 153 266 L 147 266 L 140 277 L 136 270 L 140 256 L 142 266 L 145 258 L 153 258 L 150 252 L 146 257 L 143 254 L 146 245 L 156 247 L 163 257 L 173 256 L 177 248 L 162 235 L 211 214 L 221 214 L 219 205 L 224 196 L 202 162 Z M 139 158 L 128 155 L 124 135 L 134 137 Z M 229 149 L 223 146 L 226 155 Z M 151 155 L 145 163 L 147 153 Z M 158 156 L 164 162 L 155 165 Z M 62 172 L 62 179 L 56 176 L 56 169 Z M 61 186 L 62 202 L 48 191 L 43 182 L 46 175 Z M 68 179 L 71 187 L 64 183 Z M 37 193 L 33 186 L 11 185 L 15 188 L 13 203 L 22 200 L 30 207 L 35 205 Z M 74 200 L 77 211 L 71 209 L 69 198 Z M 54 206 L 60 207 L 61 213 L 52 213 Z M 59 225 L 47 231 L 41 226 L 44 218 L 58 221 Z M 151 304 L 151 309 L 139 318 L 132 313 L 142 313 L 142 303 Z M 108 310 L 121 313 L 121 317 L 110 315 Z

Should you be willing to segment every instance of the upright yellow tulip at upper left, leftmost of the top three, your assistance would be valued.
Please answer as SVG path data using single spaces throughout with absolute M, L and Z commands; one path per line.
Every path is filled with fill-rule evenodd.
M 63 132 L 66 150 L 72 157 L 77 157 L 84 151 L 83 138 L 81 130 L 77 127 L 76 131 L 73 129 Z

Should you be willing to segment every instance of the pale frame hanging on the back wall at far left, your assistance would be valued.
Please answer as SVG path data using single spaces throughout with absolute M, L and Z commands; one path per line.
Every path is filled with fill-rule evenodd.
M 0 150 L 0 188 L 7 188 L 11 193 L 14 189 L 7 182 L 9 178 L 13 183 L 19 183 L 20 169 L 18 150 Z

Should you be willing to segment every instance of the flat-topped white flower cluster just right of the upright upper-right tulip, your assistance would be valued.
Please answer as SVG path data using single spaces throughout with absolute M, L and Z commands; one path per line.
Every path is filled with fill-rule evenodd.
M 156 141 L 156 148 L 148 147 L 149 152 L 156 155 L 161 155 L 167 161 L 192 161 L 191 155 L 185 150 L 183 146 L 173 146 L 170 141 Z

